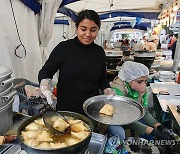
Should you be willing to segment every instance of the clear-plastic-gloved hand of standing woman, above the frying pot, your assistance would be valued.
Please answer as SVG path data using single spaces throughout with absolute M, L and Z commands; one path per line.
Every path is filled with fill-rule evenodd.
M 53 91 L 53 84 L 51 79 L 42 79 L 40 82 L 40 91 L 46 97 L 48 104 L 55 108 L 55 102 L 51 98 Z

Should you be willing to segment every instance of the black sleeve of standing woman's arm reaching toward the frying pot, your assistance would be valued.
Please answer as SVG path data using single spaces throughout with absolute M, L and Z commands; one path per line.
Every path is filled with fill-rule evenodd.
M 48 60 L 39 71 L 38 81 L 40 82 L 42 79 L 50 78 L 52 79 L 54 74 L 58 69 L 63 65 L 63 45 L 62 43 L 58 44 L 53 51 L 51 52 Z

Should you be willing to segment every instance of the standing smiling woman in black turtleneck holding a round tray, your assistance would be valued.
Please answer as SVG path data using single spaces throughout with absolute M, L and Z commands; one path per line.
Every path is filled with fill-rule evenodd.
M 59 70 L 57 110 L 84 114 L 83 102 L 99 94 L 111 94 L 106 78 L 105 52 L 94 43 L 101 22 L 93 10 L 81 11 L 76 22 L 77 36 L 60 42 L 39 72 L 40 86 L 48 88 L 49 79 Z

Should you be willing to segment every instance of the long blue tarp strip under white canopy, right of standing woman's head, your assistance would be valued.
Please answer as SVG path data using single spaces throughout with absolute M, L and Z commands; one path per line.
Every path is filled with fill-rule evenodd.
M 158 19 L 158 15 L 160 12 L 111 12 L 111 13 L 105 13 L 101 14 L 100 18 L 101 20 L 109 18 L 110 14 L 111 17 L 139 17 L 139 18 L 146 18 L 146 19 Z

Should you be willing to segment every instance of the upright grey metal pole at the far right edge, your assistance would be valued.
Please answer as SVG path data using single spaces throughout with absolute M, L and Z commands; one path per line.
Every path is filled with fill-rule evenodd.
M 178 66 L 180 63 L 180 26 L 179 26 L 179 34 L 177 38 L 177 43 L 176 43 L 176 50 L 175 50 L 175 55 L 174 55 L 174 62 L 173 62 L 173 71 L 178 71 Z

